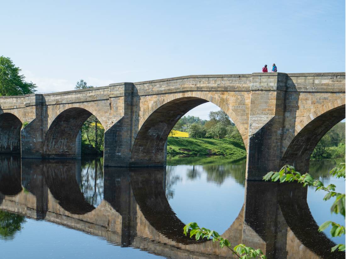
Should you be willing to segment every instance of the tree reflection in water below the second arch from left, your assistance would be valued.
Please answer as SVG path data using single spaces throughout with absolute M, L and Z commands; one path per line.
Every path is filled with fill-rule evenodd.
M 82 161 L 81 191 L 95 208 L 103 200 L 103 157 Z

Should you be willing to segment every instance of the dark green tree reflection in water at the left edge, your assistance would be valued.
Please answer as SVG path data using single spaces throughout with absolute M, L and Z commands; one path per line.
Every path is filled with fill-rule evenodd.
M 23 216 L 0 210 L 0 235 L 13 237 L 18 230 L 21 230 L 23 222 L 25 222 Z

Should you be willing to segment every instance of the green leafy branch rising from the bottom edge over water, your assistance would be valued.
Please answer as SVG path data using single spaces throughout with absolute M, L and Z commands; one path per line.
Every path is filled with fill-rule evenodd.
M 261 249 L 255 250 L 252 247 L 245 246 L 244 244 L 238 244 L 237 246 L 232 248 L 231 243 L 227 239 L 222 238 L 218 232 L 206 228 L 200 228 L 196 222 L 190 222 L 189 224 L 185 225 L 185 236 L 187 236 L 188 233 L 190 233 L 190 238 L 195 236 L 196 240 L 199 240 L 200 238 L 206 238 L 208 240 L 213 240 L 213 242 L 219 241 L 221 248 L 227 247 L 229 250 L 232 251 L 232 253 L 234 253 L 240 259 L 266 259 L 266 256 L 263 255 Z

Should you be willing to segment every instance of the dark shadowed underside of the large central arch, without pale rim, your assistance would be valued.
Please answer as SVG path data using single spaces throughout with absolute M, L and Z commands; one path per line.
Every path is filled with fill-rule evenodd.
M 165 166 L 166 141 L 172 128 L 185 113 L 207 102 L 209 102 L 207 99 L 187 96 L 164 104 L 161 101 L 154 104 L 150 115 L 140 126 L 135 138 L 130 166 Z M 231 119 L 234 121 L 235 116 L 231 116 Z M 236 126 L 240 124 L 236 123 Z M 244 140 L 244 134 L 242 135 Z

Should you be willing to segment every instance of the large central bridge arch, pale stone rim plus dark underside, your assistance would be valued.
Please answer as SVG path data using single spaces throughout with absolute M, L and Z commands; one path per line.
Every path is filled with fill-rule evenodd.
M 247 130 L 237 115 L 220 98 L 208 93 L 189 92 L 167 95 L 151 104 L 151 108 L 141 116 L 139 131 L 131 151 L 131 166 L 161 166 L 165 164 L 165 143 L 179 119 L 191 109 L 211 102 L 219 106 L 235 123 L 247 147 Z

